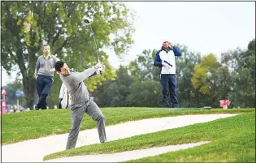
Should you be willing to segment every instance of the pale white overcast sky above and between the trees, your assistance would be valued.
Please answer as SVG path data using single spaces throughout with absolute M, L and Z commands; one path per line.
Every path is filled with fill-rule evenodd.
M 160 49 L 163 40 L 186 45 L 202 55 L 230 49 L 246 49 L 255 38 L 255 2 L 124 2 L 136 11 L 134 44 L 120 62 L 110 53 L 111 65 L 118 68 L 137 58 L 144 49 Z M 15 79 L 2 71 L 2 85 Z

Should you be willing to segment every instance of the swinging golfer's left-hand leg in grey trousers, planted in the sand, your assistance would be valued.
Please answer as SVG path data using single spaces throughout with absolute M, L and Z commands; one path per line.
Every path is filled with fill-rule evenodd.
M 83 116 L 85 114 L 85 105 L 82 107 L 77 107 L 75 109 L 71 109 L 72 114 L 72 128 L 69 131 L 69 135 L 67 138 L 67 146 L 66 148 L 75 148 L 76 147 L 76 141 L 78 138 L 78 134 L 80 131 L 80 125 L 83 119 Z

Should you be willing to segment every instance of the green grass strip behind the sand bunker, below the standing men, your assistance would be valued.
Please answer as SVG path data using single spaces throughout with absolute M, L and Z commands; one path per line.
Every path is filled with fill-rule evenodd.
M 163 108 L 103 108 L 106 126 L 143 118 L 161 118 L 184 114 L 235 114 L 254 112 L 255 109 L 193 109 Z M 71 125 L 69 109 L 46 109 L 19 114 L 2 114 L 2 145 L 27 139 L 67 133 Z M 84 116 L 81 130 L 96 127 L 96 122 Z

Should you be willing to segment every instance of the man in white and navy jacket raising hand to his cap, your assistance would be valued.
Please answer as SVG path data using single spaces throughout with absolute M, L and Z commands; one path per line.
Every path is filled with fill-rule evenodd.
M 159 66 L 160 82 L 162 85 L 163 107 L 179 108 L 176 96 L 176 62 L 175 57 L 180 56 L 180 50 L 169 41 L 163 41 L 162 48 L 155 54 L 154 66 Z

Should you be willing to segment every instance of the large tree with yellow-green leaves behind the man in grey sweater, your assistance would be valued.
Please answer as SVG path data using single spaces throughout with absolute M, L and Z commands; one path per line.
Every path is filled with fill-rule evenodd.
M 92 24 L 100 59 L 106 66 L 103 75 L 85 81 L 90 91 L 106 79 L 115 78 L 115 71 L 107 62 L 108 55 L 102 49 L 113 48 L 115 54 L 121 56 L 132 44 L 134 30 L 130 18 L 133 13 L 121 2 L 2 2 L 1 11 L 2 38 L 5 38 L 2 40 L 2 66 L 8 74 L 11 74 L 11 67 L 19 66 L 29 108 L 33 108 L 36 89 L 33 73 L 45 42 L 50 45 L 52 54 L 76 71 L 96 64 L 93 37 L 83 23 L 84 17 Z M 61 84 L 57 78 L 55 75 L 57 83 L 53 89 L 59 90 Z

